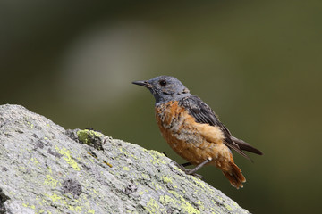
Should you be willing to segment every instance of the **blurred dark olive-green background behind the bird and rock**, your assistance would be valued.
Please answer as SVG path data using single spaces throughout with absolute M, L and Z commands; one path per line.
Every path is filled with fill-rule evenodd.
M 318 213 L 322 1 L 1 1 L 0 102 L 64 128 L 95 128 L 183 162 L 133 80 L 171 75 L 234 136 L 262 150 L 234 189 L 253 213 Z

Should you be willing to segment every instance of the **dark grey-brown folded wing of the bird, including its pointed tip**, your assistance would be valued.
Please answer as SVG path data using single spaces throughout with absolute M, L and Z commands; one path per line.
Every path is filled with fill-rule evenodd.
M 196 119 L 196 122 L 219 127 L 225 136 L 224 144 L 234 151 L 240 153 L 243 157 L 250 160 L 250 157 L 242 152 L 242 150 L 262 154 L 262 152 L 260 152 L 258 149 L 255 149 L 250 144 L 247 144 L 246 142 L 232 136 L 230 131 L 225 128 L 224 124 L 221 123 L 216 117 L 215 112 L 212 111 L 208 104 L 204 103 L 198 96 L 191 95 L 184 97 L 182 100 L 180 100 L 179 104 L 185 109 L 189 110 L 189 114 Z

